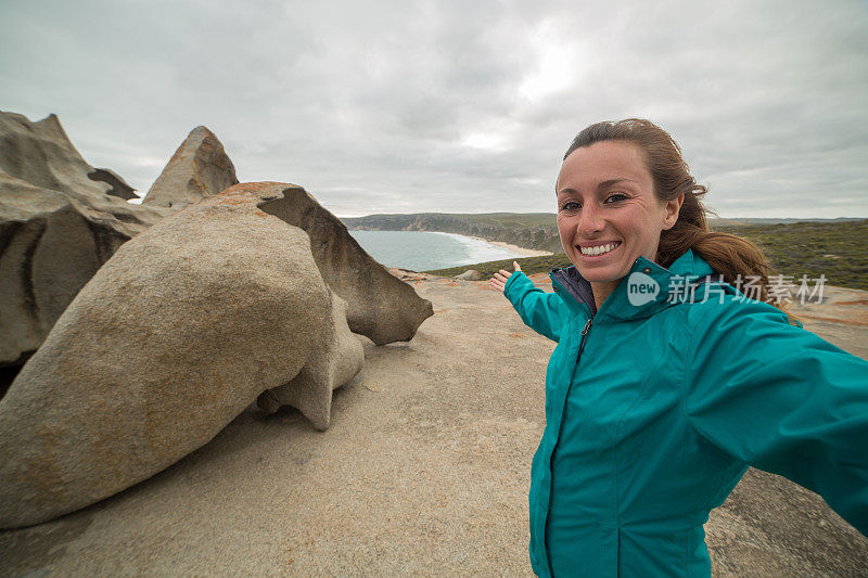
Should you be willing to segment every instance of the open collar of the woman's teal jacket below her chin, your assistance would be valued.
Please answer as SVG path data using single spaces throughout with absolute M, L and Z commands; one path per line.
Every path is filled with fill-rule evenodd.
M 607 297 L 600 311 L 616 319 L 642 319 L 674 305 L 674 297 L 684 296 L 684 287 L 699 278 L 714 273 L 712 267 L 692 249 L 687 249 L 666 269 L 647 257 L 634 261 L 627 275 Z M 574 309 L 588 317 L 597 314 L 593 292 L 574 267 L 552 269 L 549 274 L 554 291 Z

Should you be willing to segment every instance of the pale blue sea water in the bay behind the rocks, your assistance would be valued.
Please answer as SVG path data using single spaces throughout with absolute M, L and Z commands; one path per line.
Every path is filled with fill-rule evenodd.
M 480 239 L 427 231 L 349 231 L 361 248 L 385 265 L 411 271 L 446 269 L 521 255 Z

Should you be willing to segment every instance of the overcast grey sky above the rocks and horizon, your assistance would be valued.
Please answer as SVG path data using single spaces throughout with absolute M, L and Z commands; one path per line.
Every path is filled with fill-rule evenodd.
M 340 216 L 553 213 L 575 133 L 640 116 L 723 217 L 868 217 L 868 2 L 603 4 L 0 0 L 0 110 L 140 194 L 205 125 Z

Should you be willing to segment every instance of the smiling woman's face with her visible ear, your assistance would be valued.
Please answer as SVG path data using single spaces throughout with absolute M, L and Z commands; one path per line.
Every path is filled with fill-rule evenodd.
M 558 176 L 558 231 L 566 256 L 590 282 L 616 282 L 640 256 L 656 258 L 660 232 L 684 196 L 661 203 L 642 150 L 603 141 L 573 151 Z

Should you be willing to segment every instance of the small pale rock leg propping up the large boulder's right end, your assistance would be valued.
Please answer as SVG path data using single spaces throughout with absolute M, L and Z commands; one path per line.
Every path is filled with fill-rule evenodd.
M 322 321 L 307 364 L 290 383 L 263 391 L 257 399 L 268 413 L 292 406 L 320 431 L 328 429 L 331 422 L 332 391 L 352 380 L 365 363 L 361 342 L 346 323 L 346 301 L 334 292 L 331 297 L 331 314 Z

